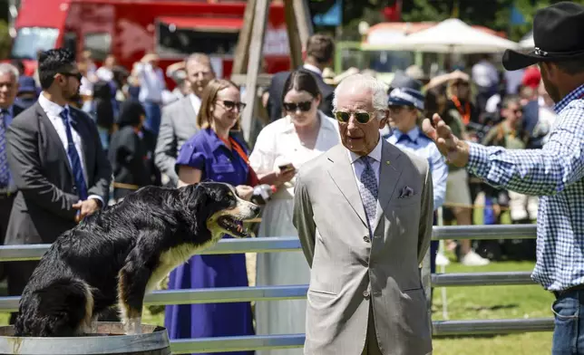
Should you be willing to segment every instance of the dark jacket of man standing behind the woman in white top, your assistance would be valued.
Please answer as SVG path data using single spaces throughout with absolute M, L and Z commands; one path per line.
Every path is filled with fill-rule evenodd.
M 324 82 L 322 76 L 316 74 L 316 72 L 308 70 L 307 72 L 312 73 L 315 77 L 318 89 L 323 97 L 318 109 L 322 110 L 326 116 L 333 117 L 333 95 L 335 89 Z M 283 117 L 282 94 L 284 93 L 284 84 L 286 83 L 288 75 L 290 75 L 290 72 L 277 72 L 272 77 L 272 82 L 269 85 L 268 114 L 269 120 L 272 122 Z

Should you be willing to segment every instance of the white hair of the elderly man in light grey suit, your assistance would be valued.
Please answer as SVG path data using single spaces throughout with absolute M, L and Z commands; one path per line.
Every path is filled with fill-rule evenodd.
M 384 82 L 375 79 L 371 75 L 353 74 L 347 76 L 342 82 L 336 86 L 335 96 L 333 97 L 333 108 L 336 110 L 338 105 L 338 95 L 341 91 L 351 89 L 358 91 L 371 91 L 371 103 L 373 108 L 378 112 L 377 119 L 381 120 L 385 117 L 384 110 L 387 110 L 387 88 Z

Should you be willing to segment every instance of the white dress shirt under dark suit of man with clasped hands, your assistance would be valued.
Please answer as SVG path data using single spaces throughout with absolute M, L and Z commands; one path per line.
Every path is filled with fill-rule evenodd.
M 61 143 L 63 144 L 63 149 L 65 149 L 65 153 L 67 153 L 67 147 L 69 145 L 69 141 L 67 140 L 67 131 L 65 130 L 65 123 L 63 122 L 63 118 L 61 118 L 61 111 L 65 108 L 53 101 L 48 100 L 44 97 L 44 93 L 42 92 L 39 95 L 38 103 L 41 105 L 41 108 L 46 113 L 46 116 L 49 118 L 51 123 L 53 123 L 54 130 L 57 131 L 59 138 L 61 139 Z M 71 109 L 67 107 L 69 112 Z M 71 122 L 71 115 L 69 116 L 69 121 Z M 87 169 L 85 168 L 85 155 L 83 154 L 83 144 L 81 140 L 81 136 L 77 131 L 71 126 L 71 135 L 73 136 L 73 144 L 75 145 L 75 150 L 77 150 L 77 155 L 79 155 L 79 159 L 81 161 L 81 166 L 83 167 L 83 178 L 85 179 L 85 185 L 87 189 L 89 189 L 89 184 L 87 182 Z M 71 158 L 69 158 L 69 154 L 67 154 L 67 159 L 69 160 L 69 165 L 71 166 Z M 91 195 L 89 198 L 97 198 L 102 202 L 103 206 L 103 199 L 97 195 Z

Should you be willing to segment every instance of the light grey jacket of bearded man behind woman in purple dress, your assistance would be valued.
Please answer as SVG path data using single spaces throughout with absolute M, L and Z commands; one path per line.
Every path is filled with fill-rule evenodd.
M 176 187 L 179 182 L 174 164 L 180 147 L 197 131 L 197 113 L 192 107 L 189 95 L 162 108 L 161 129 L 154 150 L 154 164 L 162 174 L 170 178 L 172 187 Z

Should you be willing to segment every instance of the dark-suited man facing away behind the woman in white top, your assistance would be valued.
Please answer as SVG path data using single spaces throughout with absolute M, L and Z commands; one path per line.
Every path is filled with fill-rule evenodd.
M 333 94 L 335 89 L 323 80 L 323 70 L 333 62 L 335 55 L 335 42 L 333 38 L 325 34 L 313 34 L 307 41 L 307 59 L 302 68 L 314 74 L 318 89 L 323 96 L 319 110 L 326 116 L 333 117 Z M 290 72 L 277 72 L 272 77 L 268 88 L 267 110 L 271 121 L 282 118 L 282 94 L 284 84 Z

